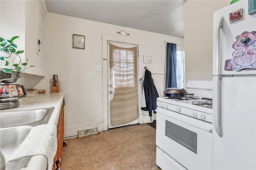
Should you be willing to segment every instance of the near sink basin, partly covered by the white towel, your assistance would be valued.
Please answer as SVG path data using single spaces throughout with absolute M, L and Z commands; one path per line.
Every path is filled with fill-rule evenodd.
M 24 141 L 32 126 L 16 126 L 0 129 L 0 148 L 5 161 L 12 159 L 12 155 Z

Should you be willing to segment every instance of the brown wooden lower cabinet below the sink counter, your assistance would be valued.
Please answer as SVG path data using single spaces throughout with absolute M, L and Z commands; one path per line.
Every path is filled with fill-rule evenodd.
M 54 164 L 52 165 L 52 170 L 60 170 L 62 164 L 62 149 L 63 149 L 63 138 L 64 138 L 64 105 L 65 100 L 63 99 L 62 106 L 60 109 L 60 117 L 57 124 L 57 139 L 58 147 L 56 154 L 54 156 Z

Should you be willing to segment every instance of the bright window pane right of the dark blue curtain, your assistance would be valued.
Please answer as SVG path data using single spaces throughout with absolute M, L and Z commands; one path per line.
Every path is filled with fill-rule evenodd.
M 185 87 L 185 52 L 184 47 L 177 45 L 176 49 L 176 78 L 177 78 L 177 87 Z

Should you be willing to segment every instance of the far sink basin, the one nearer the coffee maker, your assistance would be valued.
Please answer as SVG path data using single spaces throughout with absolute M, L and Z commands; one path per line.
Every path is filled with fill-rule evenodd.
M 0 128 L 18 125 L 36 126 L 48 123 L 54 107 L 0 112 Z

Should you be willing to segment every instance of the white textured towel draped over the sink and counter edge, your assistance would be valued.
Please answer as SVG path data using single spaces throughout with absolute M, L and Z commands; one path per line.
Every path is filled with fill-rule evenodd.
M 32 127 L 25 140 L 14 153 L 15 158 L 43 154 L 48 159 L 48 170 L 52 169 L 57 151 L 57 129 L 55 125 L 46 124 Z

